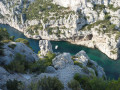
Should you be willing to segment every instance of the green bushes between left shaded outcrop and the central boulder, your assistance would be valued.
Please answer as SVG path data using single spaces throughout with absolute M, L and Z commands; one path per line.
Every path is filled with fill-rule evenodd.
M 25 56 L 21 54 L 16 54 L 14 60 L 4 67 L 11 73 L 42 73 L 45 71 L 47 66 L 52 65 L 52 59 L 55 54 L 48 52 L 45 58 L 38 61 L 29 62 L 26 60 Z

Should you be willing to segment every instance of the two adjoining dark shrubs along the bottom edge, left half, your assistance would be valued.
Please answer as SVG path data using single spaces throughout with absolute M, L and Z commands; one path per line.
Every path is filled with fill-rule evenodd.
M 8 80 L 6 83 L 8 90 L 63 90 L 64 86 L 56 77 L 43 77 L 39 81 L 31 82 L 24 86 L 21 81 Z

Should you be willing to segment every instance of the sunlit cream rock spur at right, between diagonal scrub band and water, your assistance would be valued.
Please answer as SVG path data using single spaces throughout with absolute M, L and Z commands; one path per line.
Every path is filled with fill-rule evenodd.
M 87 46 L 89 48 L 98 48 L 108 57 L 116 60 L 119 58 L 119 40 L 116 40 L 116 34 L 109 35 L 108 33 L 103 33 L 98 30 L 98 26 L 91 28 L 91 30 L 82 31 L 79 34 L 81 37 L 74 37 L 73 40 L 69 42 L 73 44 Z M 90 37 L 92 34 L 92 37 Z M 89 38 L 88 38 L 89 37 Z

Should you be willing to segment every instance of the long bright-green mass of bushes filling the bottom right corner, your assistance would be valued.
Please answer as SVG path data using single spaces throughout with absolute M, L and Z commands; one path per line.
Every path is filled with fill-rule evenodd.
M 120 78 L 118 80 L 104 80 L 97 77 L 81 76 L 76 73 L 74 79 L 79 82 L 84 90 L 119 90 Z M 78 84 L 78 86 L 79 86 Z

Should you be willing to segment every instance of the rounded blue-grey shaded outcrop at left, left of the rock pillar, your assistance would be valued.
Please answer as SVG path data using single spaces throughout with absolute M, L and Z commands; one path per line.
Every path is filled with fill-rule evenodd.
M 34 62 L 39 59 L 37 54 L 23 43 L 9 42 L 6 43 L 3 48 L 4 56 L 0 57 L 0 64 L 9 64 L 18 53 L 25 56 L 29 62 Z

